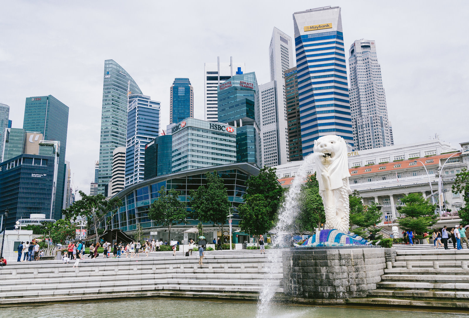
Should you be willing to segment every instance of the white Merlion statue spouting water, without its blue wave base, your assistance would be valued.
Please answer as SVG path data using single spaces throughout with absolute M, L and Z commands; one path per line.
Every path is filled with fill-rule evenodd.
M 347 144 L 342 137 L 327 135 L 314 141 L 316 179 L 319 195 L 324 204 L 325 229 L 338 229 L 348 233 L 348 184 Z

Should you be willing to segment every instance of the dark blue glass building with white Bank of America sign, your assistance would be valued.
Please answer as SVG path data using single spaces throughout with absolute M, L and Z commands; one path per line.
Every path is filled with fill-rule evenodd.
M 30 214 L 53 216 L 54 195 L 58 193 L 56 163 L 53 156 L 25 154 L 1 164 L 0 211 L 9 210 L 7 229 L 15 229 L 15 222 Z

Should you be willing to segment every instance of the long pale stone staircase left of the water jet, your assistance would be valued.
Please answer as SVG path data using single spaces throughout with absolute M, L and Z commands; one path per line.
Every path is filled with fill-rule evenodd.
M 281 251 L 273 259 L 281 260 Z M 267 276 L 283 293 L 282 269 L 271 269 L 259 251 L 210 251 L 204 265 L 198 253 L 185 257 L 157 252 L 146 257 L 75 261 L 11 262 L 0 267 L 0 304 L 135 296 L 178 296 L 257 300 Z

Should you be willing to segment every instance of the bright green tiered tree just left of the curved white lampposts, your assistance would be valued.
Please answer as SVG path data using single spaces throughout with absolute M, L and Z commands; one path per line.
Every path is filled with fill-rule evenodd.
M 425 200 L 422 193 L 409 193 L 401 199 L 401 202 L 405 206 L 398 207 L 398 211 L 404 216 L 400 217 L 397 222 L 402 229 L 413 230 L 421 235 L 430 226 L 436 224 L 438 219 L 438 215 L 435 214 L 436 204 Z

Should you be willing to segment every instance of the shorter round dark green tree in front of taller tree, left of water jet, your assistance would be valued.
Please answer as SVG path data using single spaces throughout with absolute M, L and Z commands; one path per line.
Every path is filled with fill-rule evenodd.
M 246 203 L 238 207 L 241 218 L 239 227 L 245 233 L 257 236 L 267 233 L 272 229 L 272 221 L 269 217 L 268 204 L 261 194 L 254 194 L 246 200 Z

